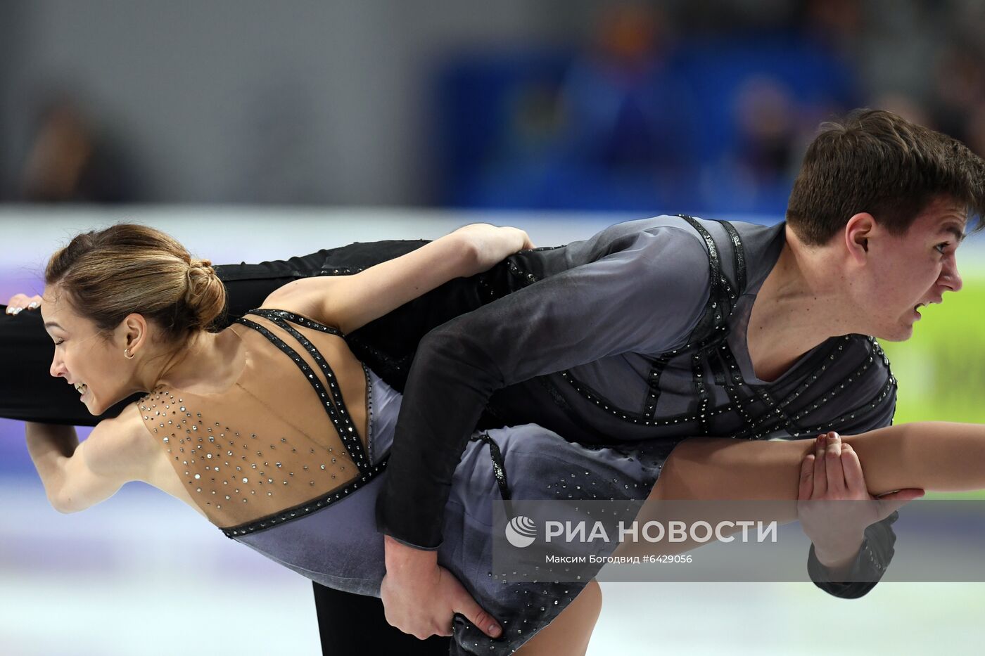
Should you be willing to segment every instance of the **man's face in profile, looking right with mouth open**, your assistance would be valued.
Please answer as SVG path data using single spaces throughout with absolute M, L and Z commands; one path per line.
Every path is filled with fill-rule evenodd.
M 945 292 L 961 289 L 954 251 L 966 222 L 962 206 L 939 199 L 905 233 L 882 230 L 880 238 L 870 241 L 870 284 L 864 302 L 872 335 L 890 342 L 909 339 L 923 305 L 939 303 Z

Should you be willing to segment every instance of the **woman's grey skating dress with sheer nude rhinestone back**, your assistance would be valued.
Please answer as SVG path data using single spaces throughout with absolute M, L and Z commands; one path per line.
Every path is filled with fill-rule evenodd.
M 305 317 L 254 310 L 228 330 L 247 354 L 236 383 L 217 394 L 159 386 L 139 403 L 145 425 L 228 537 L 323 585 L 379 596 L 383 536 L 373 508 L 401 395 L 356 360 L 338 331 Z M 493 640 L 456 616 L 452 653 L 511 653 L 584 587 L 493 576 L 496 501 L 566 498 L 575 489 L 642 499 L 680 441 L 617 450 L 535 425 L 477 433 L 455 472 L 438 562 L 504 635 Z

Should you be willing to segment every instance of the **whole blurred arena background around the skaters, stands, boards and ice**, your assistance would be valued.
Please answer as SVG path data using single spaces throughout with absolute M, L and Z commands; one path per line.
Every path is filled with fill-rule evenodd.
M 773 223 L 819 123 L 855 106 L 985 155 L 983 33 L 979 0 L 9 0 L 0 301 L 121 220 L 217 263 L 473 221 L 541 245 L 662 213 Z M 889 348 L 898 421 L 985 421 L 976 241 L 965 292 Z M 0 653 L 318 653 L 307 582 L 163 493 L 59 515 L 3 420 L 0 492 Z M 593 656 L 966 653 L 985 587 L 604 591 Z

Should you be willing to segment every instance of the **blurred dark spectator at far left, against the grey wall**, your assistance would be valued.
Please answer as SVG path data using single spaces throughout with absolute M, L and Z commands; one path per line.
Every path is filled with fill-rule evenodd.
M 138 200 L 133 171 L 72 98 L 38 112 L 20 200 L 37 203 L 127 203 Z

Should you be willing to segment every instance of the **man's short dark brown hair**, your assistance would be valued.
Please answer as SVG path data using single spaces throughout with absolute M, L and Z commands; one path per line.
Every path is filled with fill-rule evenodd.
M 856 109 L 821 123 L 787 205 L 790 228 L 808 244 L 827 243 L 868 212 L 893 234 L 909 229 L 932 201 L 985 210 L 985 163 L 964 144 L 882 109 Z M 981 228 L 981 221 L 977 223 Z

